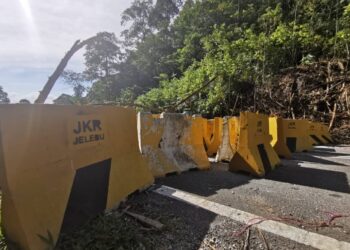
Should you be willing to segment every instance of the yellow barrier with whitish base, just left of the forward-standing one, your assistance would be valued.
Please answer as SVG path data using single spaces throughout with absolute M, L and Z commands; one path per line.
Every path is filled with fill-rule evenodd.
M 222 140 L 215 161 L 231 161 L 237 150 L 237 135 L 239 130 L 238 117 L 225 117 L 223 119 Z

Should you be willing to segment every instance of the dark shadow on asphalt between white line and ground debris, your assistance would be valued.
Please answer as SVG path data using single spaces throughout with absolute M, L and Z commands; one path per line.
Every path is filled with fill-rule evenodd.
M 133 212 L 160 218 L 167 226 L 155 240 L 159 249 L 200 249 L 217 215 L 197 206 L 150 192 L 137 194 L 128 201 Z M 169 237 L 169 235 L 171 237 Z M 161 246 L 161 247 L 160 247 Z

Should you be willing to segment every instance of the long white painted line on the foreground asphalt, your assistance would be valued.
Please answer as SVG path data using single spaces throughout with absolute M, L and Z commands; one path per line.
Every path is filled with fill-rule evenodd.
M 247 213 L 232 207 L 228 207 L 216 202 L 206 200 L 200 196 L 193 195 L 178 189 L 174 189 L 168 186 L 161 186 L 154 190 L 155 193 L 174 198 L 191 205 L 203 208 L 217 215 L 228 217 L 234 221 L 247 224 L 252 219 L 261 218 L 261 216 Z M 297 227 L 293 227 L 281 222 L 267 220 L 255 225 L 261 230 L 281 236 L 292 241 L 311 246 L 313 248 L 321 250 L 349 250 L 350 243 L 345 241 L 339 241 L 337 239 L 320 235 L 317 233 L 309 232 Z

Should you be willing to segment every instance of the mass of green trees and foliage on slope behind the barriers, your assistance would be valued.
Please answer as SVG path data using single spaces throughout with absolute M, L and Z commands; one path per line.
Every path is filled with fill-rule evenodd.
M 216 77 L 176 110 L 231 114 L 283 68 L 350 58 L 349 0 L 134 0 L 122 24 L 87 48 L 88 102 L 160 112 Z

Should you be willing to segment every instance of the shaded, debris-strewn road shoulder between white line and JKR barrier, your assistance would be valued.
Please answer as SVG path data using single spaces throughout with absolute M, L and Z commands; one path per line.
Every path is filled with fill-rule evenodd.
M 157 230 L 122 215 L 125 208 L 161 222 L 164 228 Z M 84 229 L 66 236 L 58 249 L 310 249 L 256 229 L 250 230 L 246 241 L 247 233 L 234 235 L 242 226 L 226 217 L 149 191 L 132 195 L 118 211 L 97 218 Z

